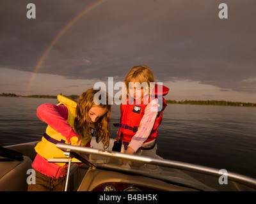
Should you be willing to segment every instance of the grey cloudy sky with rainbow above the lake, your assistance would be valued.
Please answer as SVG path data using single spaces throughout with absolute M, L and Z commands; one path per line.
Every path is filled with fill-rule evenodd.
M 166 99 L 256 103 L 255 8 L 255 0 L 1 0 L 0 92 L 79 95 L 145 64 L 170 88 Z

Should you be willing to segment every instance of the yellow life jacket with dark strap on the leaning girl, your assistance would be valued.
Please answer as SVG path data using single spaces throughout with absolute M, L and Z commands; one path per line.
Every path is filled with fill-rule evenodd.
M 58 95 L 57 98 L 58 98 L 58 101 L 60 101 L 58 105 L 65 105 L 68 108 L 67 122 L 74 129 L 74 121 L 76 117 L 76 101 L 73 101 L 72 99 L 69 99 L 62 95 Z M 91 128 L 91 133 L 93 134 L 93 131 L 95 129 L 94 123 L 90 125 L 90 128 Z M 91 141 L 92 134 L 82 138 L 81 146 L 86 146 L 86 144 Z M 56 143 L 50 142 L 52 140 L 56 142 L 68 143 L 67 138 L 65 138 L 65 136 L 61 135 L 61 133 L 58 133 L 53 128 L 51 128 L 51 126 L 48 125 L 46 128 L 45 134 L 42 137 L 42 141 L 39 142 L 35 147 L 36 152 L 40 154 L 40 156 L 44 157 L 45 159 L 65 157 L 65 155 L 63 154 L 63 151 L 56 147 Z M 56 164 L 60 166 L 65 165 L 65 163 L 56 163 Z

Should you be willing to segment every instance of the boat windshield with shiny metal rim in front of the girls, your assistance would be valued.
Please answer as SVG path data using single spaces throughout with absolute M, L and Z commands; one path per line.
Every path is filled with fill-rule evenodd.
M 63 143 L 56 146 L 70 151 L 72 156 L 93 168 L 140 175 L 199 191 L 256 191 L 255 179 L 236 173 L 225 174 L 225 171 L 160 157 L 136 156 Z

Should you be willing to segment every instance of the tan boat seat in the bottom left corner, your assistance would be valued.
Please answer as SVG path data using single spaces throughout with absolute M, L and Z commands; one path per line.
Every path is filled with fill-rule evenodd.
M 28 191 L 26 173 L 31 164 L 28 156 L 22 161 L 0 161 L 0 191 Z

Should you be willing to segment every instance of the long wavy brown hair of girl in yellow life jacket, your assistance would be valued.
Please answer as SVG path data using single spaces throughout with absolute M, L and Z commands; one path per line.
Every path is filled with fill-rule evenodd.
M 74 122 L 74 129 L 77 135 L 82 138 L 88 137 L 91 134 L 90 131 L 90 117 L 88 115 L 89 110 L 92 107 L 106 108 L 107 112 L 95 122 L 95 135 L 96 142 L 100 141 L 103 143 L 104 149 L 109 146 L 109 136 L 110 136 L 110 117 L 111 117 L 111 105 L 108 105 L 108 94 L 106 93 L 106 105 L 96 105 L 93 101 L 94 95 L 99 90 L 88 89 L 84 91 L 83 94 L 77 100 L 76 107 L 76 118 Z M 101 97 L 101 96 L 100 96 Z

